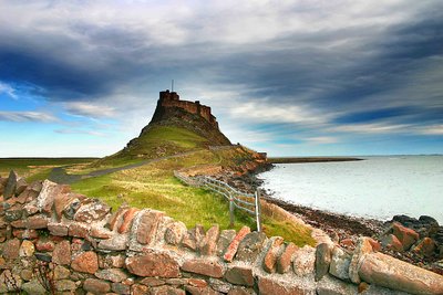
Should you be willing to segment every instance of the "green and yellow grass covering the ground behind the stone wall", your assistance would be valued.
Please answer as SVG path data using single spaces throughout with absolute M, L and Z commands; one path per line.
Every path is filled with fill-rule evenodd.
M 124 166 L 148 158 L 158 158 L 184 151 L 195 151 L 178 158 L 163 159 L 135 169 L 123 170 L 102 177 L 83 179 L 73 183 L 73 190 L 89 197 L 103 199 L 115 210 L 123 202 L 136 208 L 153 208 L 183 221 L 188 228 L 202 224 L 208 229 L 218 223 L 222 229 L 229 225 L 228 202 L 220 196 L 181 183 L 174 170 L 185 167 L 214 164 L 238 166 L 250 160 L 250 152 L 243 148 L 210 151 L 200 148 L 206 139 L 183 128 L 156 126 L 138 138 L 137 145 L 126 152 L 120 151 L 91 164 L 91 159 L 27 159 L 0 161 L 1 175 L 14 168 L 30 180 L 44 179 L 52 167 L 73 165 L 69 172 L 86 173 L 107 167 Z M 145 155 L 138 158 L 137 155 Z M 33 167 L 33 168 L 30 168 Z M 3 172 L 6 171 L 6 172 Z M 255 228 L 254 219 L 236 211 L 235 228 Z M 313 244 L 310 231 L 305 226 L 288 223 L 279 217 L 264 217 L 264 230 L 268 235 L 280 235 L 298 245 Z

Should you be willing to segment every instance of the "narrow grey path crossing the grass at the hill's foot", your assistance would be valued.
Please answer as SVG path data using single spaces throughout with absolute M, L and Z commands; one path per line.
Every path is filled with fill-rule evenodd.
M 126 166 L 122 166 L 122 167 L 95 170 L 95 171 L 89 172 L 86 175 L 69 175 L 69 173 L 66 173 L 65 168 L 68 168 L 70 166 L 56 167 L 56 168 L 52 169 L 48 179 L 53 182 L 60 183 L 60 185 L 71 185 L 71 183 L 80 181 L 82 179 L 86 179 L 86 178 L 91 178 L 91 177 L 100 177 L 100 176 L 104 176 L 104 175 L 109 175 L 109 173 L 113 173 L 113 172 L 117 172 L 117 171 L 134 169 L 134 168 L 138 168 L 142 166 L 154 164 L 154 162 L 162 161 L 162 160 L 188 156 L 188 155 L 195 154 L 197 151 L 199 151 L 199 150 L 192 150 L 192 151 L 181 152 L 181 154 L 176 154 L 176 155 L 172 155 L 172 156 L 165 156 L 165 157 L 161 157 L 161 158 L 156 158 L 156 159 L 144 160 L 144 161 L 140 161 L 136 164 L 131 164 L 131 165 L 126 165 Z

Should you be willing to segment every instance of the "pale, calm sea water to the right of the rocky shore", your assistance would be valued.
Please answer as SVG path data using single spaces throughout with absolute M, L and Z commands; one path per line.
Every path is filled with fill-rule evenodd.
M 443 224 L 443 156 L 280 164 L 259 178 L 275 197 L 337 213 L 390 220 L 431 215 Z

